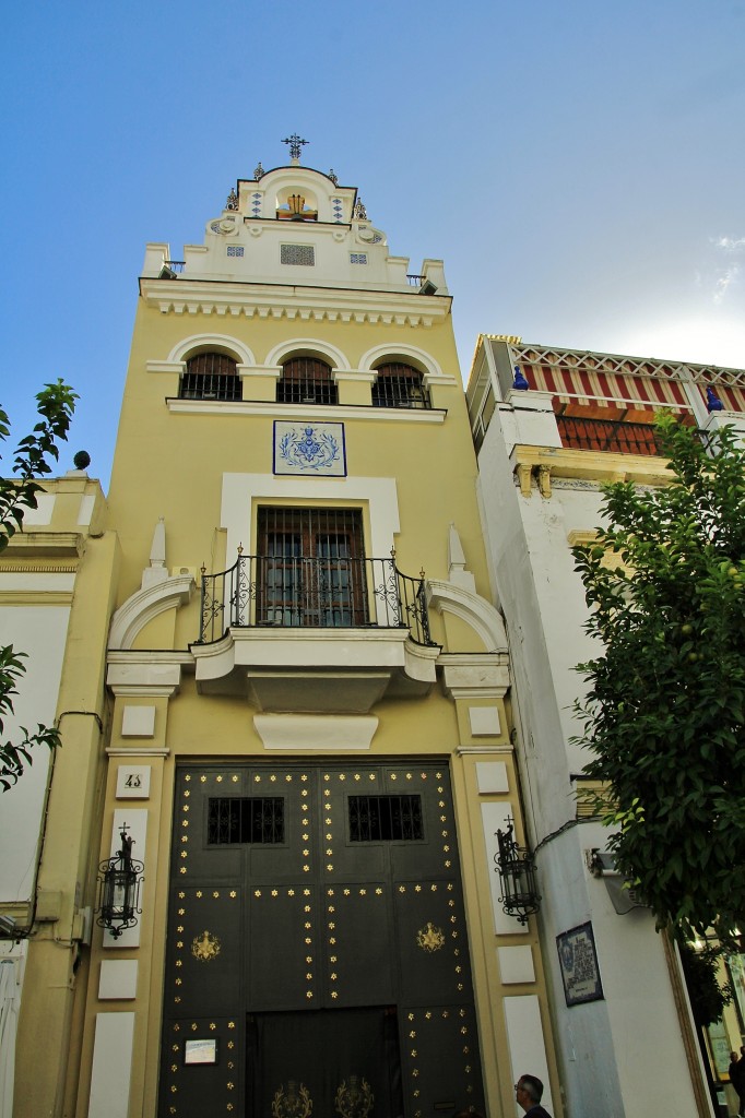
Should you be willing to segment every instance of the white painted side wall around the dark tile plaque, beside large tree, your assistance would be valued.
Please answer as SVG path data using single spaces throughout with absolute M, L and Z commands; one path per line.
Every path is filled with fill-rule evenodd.
M 570 531 L 600 521 L 601 495 L 554 484 L 551 498 L 515 485 L 496 411 L 479 454 L 479 498 L 494 595 L 507 620 L 526 816 L 535 844 L 575 816 L 572 774 L 588 759 L 570 737 L 582 692 L 574 666 L 593 655 L 583 632 L 584 593 L 569 553 Z M 509 416 L 508 416 L 509 421 Z M 619 916 L 584 851 L 605 846 L 598 824 L 582 824 L 537 855 L 544 901 L 541 946 L 567 1111 L 572 1118 L 696 1114 L 662 944 L 650 913 Z M 592 921 L 605 998 L 567 1007 L 556 936 Z M 522 1069 L 528 1070 L 528 1069 Z

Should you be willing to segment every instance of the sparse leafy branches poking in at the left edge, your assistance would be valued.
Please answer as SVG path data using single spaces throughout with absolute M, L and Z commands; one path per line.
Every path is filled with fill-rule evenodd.
M 58 444 L 67 438 L 75 410 L 76 394 L 62 380 L 45 385 L 37 395 L 39 423 L 30 435 L 22 438 L 13 455 L 12 475 L 0 477 L 0 553 L 23 527 L 27 509 L 37 508 L 37 495 L 44 491 L 38 481 L 51 473 L 50 462 L 59 456 Z M 0 443 L 10 435 L 8 415 L 0 408 Z M 54 727 L 38 724 L 36 731 L 19 727 L 20 740 L 6 739 L 6 722 L 13 714 L 13 700 L 18 682 L 26 667 L 26 654 L 12 645 L 0 645 L 0 789 L 7 792 L 18 783 L 26 767 L 31 764 L 36 746 L 56 749 L 59 733 Z

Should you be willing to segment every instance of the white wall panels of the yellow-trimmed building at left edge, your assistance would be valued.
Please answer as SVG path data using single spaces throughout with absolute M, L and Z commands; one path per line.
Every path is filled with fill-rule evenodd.
M 66 575 L 40 577 L 73 578 Z M 27 588 L 36 588 L 34 576 L 25 576 L 25 579 Z M 15 700 L 15 724 L 10 720 L 6 724 L 7 737 L 11 740 L 18 740 L 16 729 L 19 726 L 35 730 L 39 722 L 54 722 L 68 619 L 68 606 L 0 606 L 0 643 L 12 644 L 17 652 L 27 653 L 26 675 Z M 48 751 L 37 749 L 31 768 L 0 799 L 2 901 L 30 898 L 48 769 Z

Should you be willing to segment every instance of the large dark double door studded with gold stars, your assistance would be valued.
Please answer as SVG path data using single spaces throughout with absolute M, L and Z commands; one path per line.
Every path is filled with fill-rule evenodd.
M 446 768 L 183 766 L 175 816 L 161 1116 L 482 1108 Z

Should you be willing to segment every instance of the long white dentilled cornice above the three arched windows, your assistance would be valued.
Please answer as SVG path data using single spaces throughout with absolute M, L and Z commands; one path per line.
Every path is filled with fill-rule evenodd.
M 206 280 L 140 281 L 148 306 L 161 314 L 245 315 L 383 325 L 431 326 L 450 315 L 449 295 L 226 283 Z

